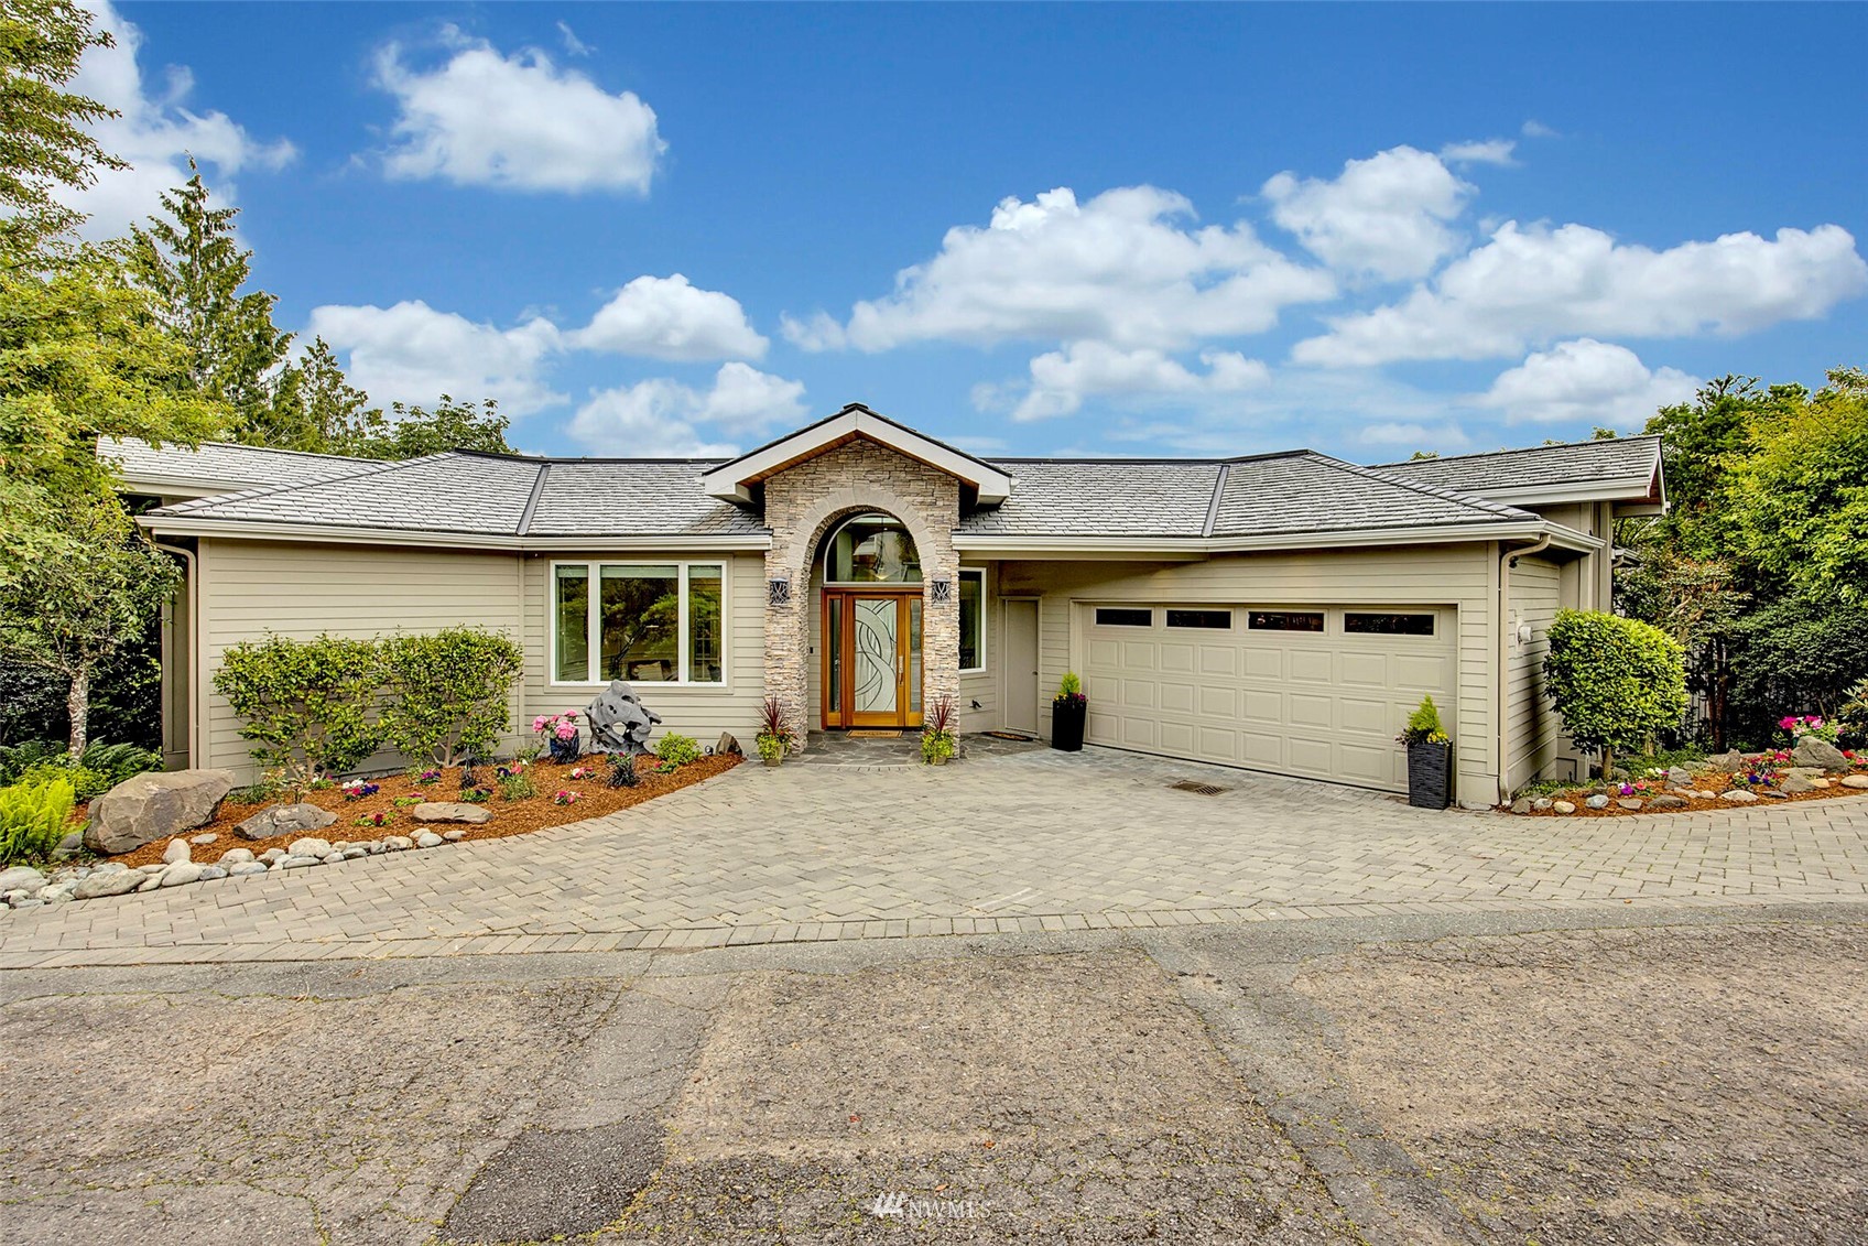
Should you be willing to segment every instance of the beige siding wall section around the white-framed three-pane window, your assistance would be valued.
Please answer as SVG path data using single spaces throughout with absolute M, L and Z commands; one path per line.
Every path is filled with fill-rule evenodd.
M 519 559 L 523 585 L 525 686 L 519 721 L 529 727 L 540 714 L 583 712 L 605 684 L 551 682 L 551 564 L 553 562 L 719 562 L 725 570 L 721 605 L 723 686 L 635 684 L 643 704 L 661 715 L 663 732 L 693 736 L 702 747 L 730 730 L 749 747 L 758 730 L 758 706 L 766 699 L 764 559 L 760 555 L 700 553 L 527 553 Z

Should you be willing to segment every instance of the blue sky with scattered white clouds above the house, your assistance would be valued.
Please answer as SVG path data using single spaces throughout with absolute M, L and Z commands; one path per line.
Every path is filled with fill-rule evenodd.
M 1862 6 L 99 13 L 92 232 L 194 153 L 282 327 L 527 450 L 1382 461 L 1868 362 Z

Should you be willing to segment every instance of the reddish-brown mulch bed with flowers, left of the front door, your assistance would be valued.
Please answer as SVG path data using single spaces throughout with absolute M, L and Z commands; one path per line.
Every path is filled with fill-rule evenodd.
M 603 757 L 588 757 L 570 766 L 559 766 L 549 760 L 531 762 L 525 773 L 531 775 L 532 786 L 538 788 L 536 796 L 519 801 L 508 801 L 499 794 L 499 785 L 493 779 L 493 766 L 480 766 L 476 777 L 480 786 L 488 788 L 491 796 L 486 801 L 486 809 L 493 813 L 491 822 L 480 826 L 469 826 L 465 822 L 435 822 L 424 824 L 417 822 L 409 809 L 396 807 L 396 798 L 418 796 L 432 801 L 458 801 L 460 800 L 460 770 L 450 768 L 441 772 L 441 777 L 433 783 L 415 783 L 407 775 L 389 775 L 383 779 L 372 779 L 379 786 L 374 796 L 364 796 L 361 800 L 344 800 L 344 792 L 331 788 L 323 792 L 304 792 L 303 800 L 308 805 L 318 805 L 319 809 L 329 809 L 338 816 L 336 822 L 319 831 L 299 831 L 295 835 L 275 835 L 273 839 L 241 839 L 234 828 L 239 826 L 248 816 L 260 813 L 267 805 L 288 803 L 290 798 L 280 798 L 276 801 L 263 801 L 258 805 L 237 805 L 232 800 L 222 801 L 213 822 L 187 831 L 187 837 L 215 833 L 220 839 L 207 846 L 194 848 L 196 861 L 217 861 L 220 854 L 228 848 L 252 848 L 258 856 L 267 848 L 286 848 L 293 839 L 301 835 L 316 835 L 318 839 L 351 841 L 361 842 L 364 839 L 383 839 L 385 835 L 415 835 L 422 826 L 441 833 L 441 831 L 467 831 L 465 839 L 502 839 L 506 835 L 525 835 L 527 831 L 542 831 L 547 826 L 562 826 L 566 822 L 583 822 L 585 818 L 601 818 L 605 813 L 616 813 L 618 809 L 628 809 L 631 805 L 641 805 L 644 800 L 654 800 L 658 796 L 667 796 L 669 792 L 678 792 L 684 786 L 700 783 L 702 779 L 712 779 L 714 775 L 725 773 L 738 766 L 743 758 L 727 757 L 702 757 L 699 760 L 687 762 L 680 770 L 671 773 L 661 773 L 656 770 L 656 758 L 639 758 L 637 775 L 639 783 L 633 788 L 613 788 L 609 786 L 609 762 Z M 572 770 L 585 766 L 592 773 L 587 779 L 572 779 Z M 560 788 L 577 792 L 577 801 L 572 805 L 553 805 L 551 796 Z M 389 813 L 392 820 L 387 826 L 357 826 L 357 818 L 374 813 Z M 163 850 L 168 848 L 168 839 L 159 839 L 155 842 L 144 844 L 134 852 L 123 852 L 110 861 L 121 861 L 129 867 L 153 865 L 163 859 Z

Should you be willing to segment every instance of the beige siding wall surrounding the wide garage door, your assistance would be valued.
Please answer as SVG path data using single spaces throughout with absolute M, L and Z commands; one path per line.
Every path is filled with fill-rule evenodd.
M 1039 717 L 1050 734 L 1050 695 L 1080 669 L 1076 602 L 1227 605 L 1450 605 L 1457 611 L 1455 766 L 1459 798 L 1496 800 L 1493 667 L 1498 600 L 1494 545 L 1412 545 L 1304 553 L 1218 555 L 1199 562 L 1001 562 L 999 592 L 1039 596 Z

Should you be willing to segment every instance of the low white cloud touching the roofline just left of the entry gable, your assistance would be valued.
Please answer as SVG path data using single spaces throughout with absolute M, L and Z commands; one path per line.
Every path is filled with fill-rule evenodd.
M 596 392 L 572 417 L 570 435 L 601 454 L 717 458 L 736 454 L 738 445 L 708 441 L 714 430 L 753 435 L 773 424 L 796 424 L 805 415 L 803 392 L 800 381 L 729 362 L 708 390 L 654 377 Z

